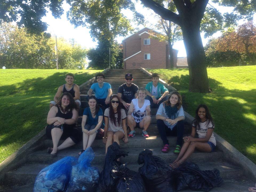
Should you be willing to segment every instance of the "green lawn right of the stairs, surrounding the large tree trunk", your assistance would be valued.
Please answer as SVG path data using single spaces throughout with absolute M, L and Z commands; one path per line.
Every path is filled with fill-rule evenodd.
M 201 103 L 209 107 L 214 131 L 256 163 L 256 66 L 208 68 L 213 93 L 191 93 L 188 69 L 155 69 L 151 73 L 175 87 L 192 116 Z

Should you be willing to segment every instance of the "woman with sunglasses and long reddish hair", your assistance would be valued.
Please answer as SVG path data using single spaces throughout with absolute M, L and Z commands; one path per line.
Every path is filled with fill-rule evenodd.
M 103 143 L 107 147 L 113 142 L 117 142 L 120 145 L 119 140 L 123 138 L 125 143 L 128 142 L 127 128 L 126 128 L 126 114 L 125 110 L 120 107 L 120 99 L 117 95 L 111 98 L 109 108 L 104 113 L 104 137 Z

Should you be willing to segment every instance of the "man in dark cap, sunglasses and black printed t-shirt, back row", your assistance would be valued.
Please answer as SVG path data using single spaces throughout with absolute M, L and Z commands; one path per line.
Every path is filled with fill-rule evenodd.
M 124 109 L 129 109 L 131 100 L 137 98 L 137 90 L 139 87 L 133 82 L 133 75 L 131 73 L 125 74 L 125 82 L 118 88 L 117 96 L 120 98 Z

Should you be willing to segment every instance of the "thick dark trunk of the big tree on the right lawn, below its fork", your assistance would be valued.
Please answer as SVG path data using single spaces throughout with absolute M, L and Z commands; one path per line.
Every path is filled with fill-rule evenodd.
M 200 36 L 200 25 L 183 21 L 181 26 L 189 66 L 189 90 L 207 93 L 209 81 L 205 63 L 205 51 Z

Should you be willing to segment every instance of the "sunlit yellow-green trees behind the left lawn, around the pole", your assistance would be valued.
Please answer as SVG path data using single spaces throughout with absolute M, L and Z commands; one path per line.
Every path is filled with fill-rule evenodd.
M 54 69 L 55 38 L 47 33 L 30 34 L 10 23 L 0 25 L 0 64 L 7 68 Z M 80 45 L 58 40 L 59 69 L 83 69 L 86 51 Z

